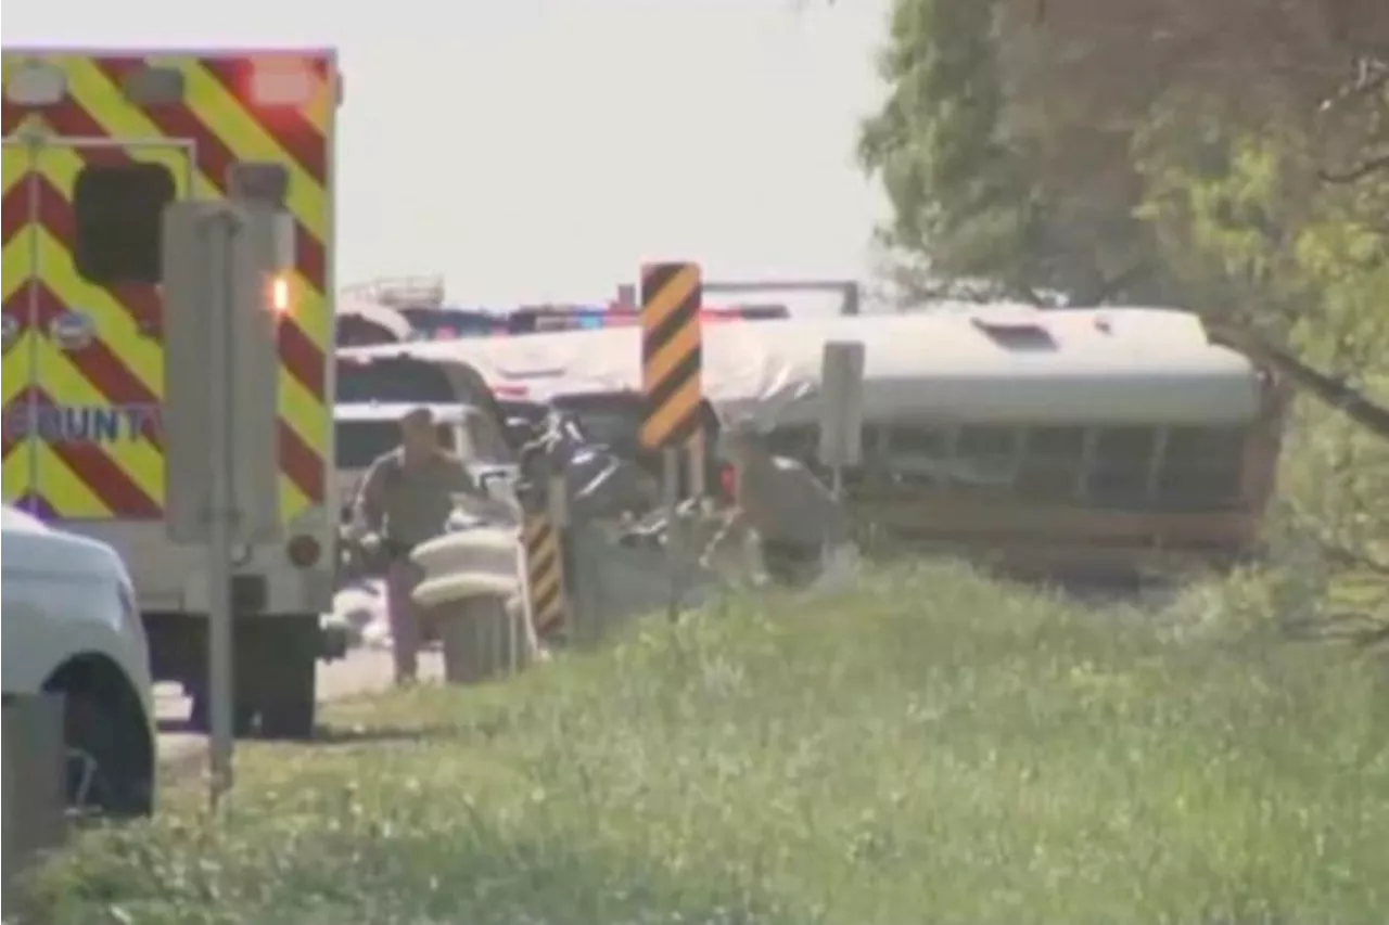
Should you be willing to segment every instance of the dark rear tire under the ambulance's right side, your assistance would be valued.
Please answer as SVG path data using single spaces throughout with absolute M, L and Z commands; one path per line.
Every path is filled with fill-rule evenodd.
M 303 742 L 318 719 L 318 615 L 279 617 L 261 625 L 272 660 L 258 678 L 260 732 L 265 739 Z

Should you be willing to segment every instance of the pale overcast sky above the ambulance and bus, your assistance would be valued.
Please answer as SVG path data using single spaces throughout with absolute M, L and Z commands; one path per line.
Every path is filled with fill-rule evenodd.
M 643 258 L 863 275 L 886 0 L 6 4 L 7 44 L 333 44 L 339 282 L 606 297 Z

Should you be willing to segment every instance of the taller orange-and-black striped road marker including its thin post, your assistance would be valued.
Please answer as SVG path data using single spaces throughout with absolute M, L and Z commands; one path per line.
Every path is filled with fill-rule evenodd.
M 699 264 L 642 267 L 642 444 L 663 454 L 665 553 L 669 569 L 667 612 L 679 615 L 683 529 L 679 522 L 681 457 L 690 460 L 690 494 L 703 494 L 704 456 L 700 431 L 703 389 L 703 285 Z M 697 457 L 697 458 L 696 458 Z

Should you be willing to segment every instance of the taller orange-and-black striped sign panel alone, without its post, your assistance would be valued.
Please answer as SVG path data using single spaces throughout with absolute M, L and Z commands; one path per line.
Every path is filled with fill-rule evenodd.
M 642 267 L 642 444 L 678 449 L 699 432 L 703 301 L 699 264 Z

